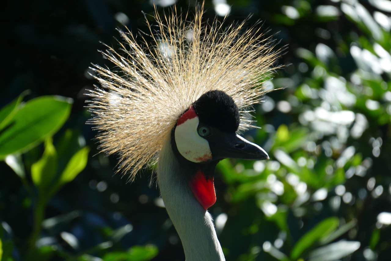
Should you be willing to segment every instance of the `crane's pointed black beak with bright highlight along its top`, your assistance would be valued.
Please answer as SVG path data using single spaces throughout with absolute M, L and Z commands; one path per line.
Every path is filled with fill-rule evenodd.
M 224 133 L 208 139 L 213 159 L 269 159 L 264 149 L 236 133 Z

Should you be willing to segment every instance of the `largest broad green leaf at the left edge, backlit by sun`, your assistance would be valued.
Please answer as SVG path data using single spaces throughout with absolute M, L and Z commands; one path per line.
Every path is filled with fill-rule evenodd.
M 28 150 L 57 132 L 68 119 L 72 102 L 61 96 L 43 96 L 25 103 L 0 133 L 0 159 Z

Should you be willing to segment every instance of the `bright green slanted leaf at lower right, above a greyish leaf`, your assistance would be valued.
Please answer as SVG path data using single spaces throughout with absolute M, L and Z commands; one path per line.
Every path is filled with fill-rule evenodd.
M 329 236 L 331 232 L 338 227 L 339 220 L 337 217 L 323 219 L 314 228 L 302 236 L 296 245 L 293 246 L 291 259 L 298 259 L 300 255 L 310 246 L 316 244 L 319 240 Z

